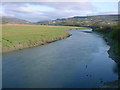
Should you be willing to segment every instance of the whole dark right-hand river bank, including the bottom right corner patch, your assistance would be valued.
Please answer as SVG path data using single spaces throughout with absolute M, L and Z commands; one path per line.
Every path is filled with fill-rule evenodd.
M 104 83 L 101 88 L 119 88 L 120 87 L 120 27 L 119 26 L 92 26 L 93 31 L 101 34 L 107 44 L 109 57 L 116 62 L 118 80 Z

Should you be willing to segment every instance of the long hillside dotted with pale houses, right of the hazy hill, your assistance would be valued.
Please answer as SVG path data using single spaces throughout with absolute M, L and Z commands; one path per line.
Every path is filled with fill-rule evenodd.
M 75 16 L 51 21 L 37 22 L 40 25 L 65 25 L 65 26 L 92 26 L 92 25 L 116 25 L 118 15 Z

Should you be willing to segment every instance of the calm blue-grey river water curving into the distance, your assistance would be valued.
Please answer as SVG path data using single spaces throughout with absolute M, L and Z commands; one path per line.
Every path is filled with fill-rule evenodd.
M 118 79 L 109 46 L 91 29 L 69 38 L 3 54 L 3 88 L 96 88 Z

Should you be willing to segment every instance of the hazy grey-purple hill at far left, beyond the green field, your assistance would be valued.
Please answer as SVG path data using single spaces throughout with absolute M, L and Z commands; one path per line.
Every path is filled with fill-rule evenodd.
M 15 17 L 2 16 L 2 24 L 28 24 L 26 20 L 18 19 Z

